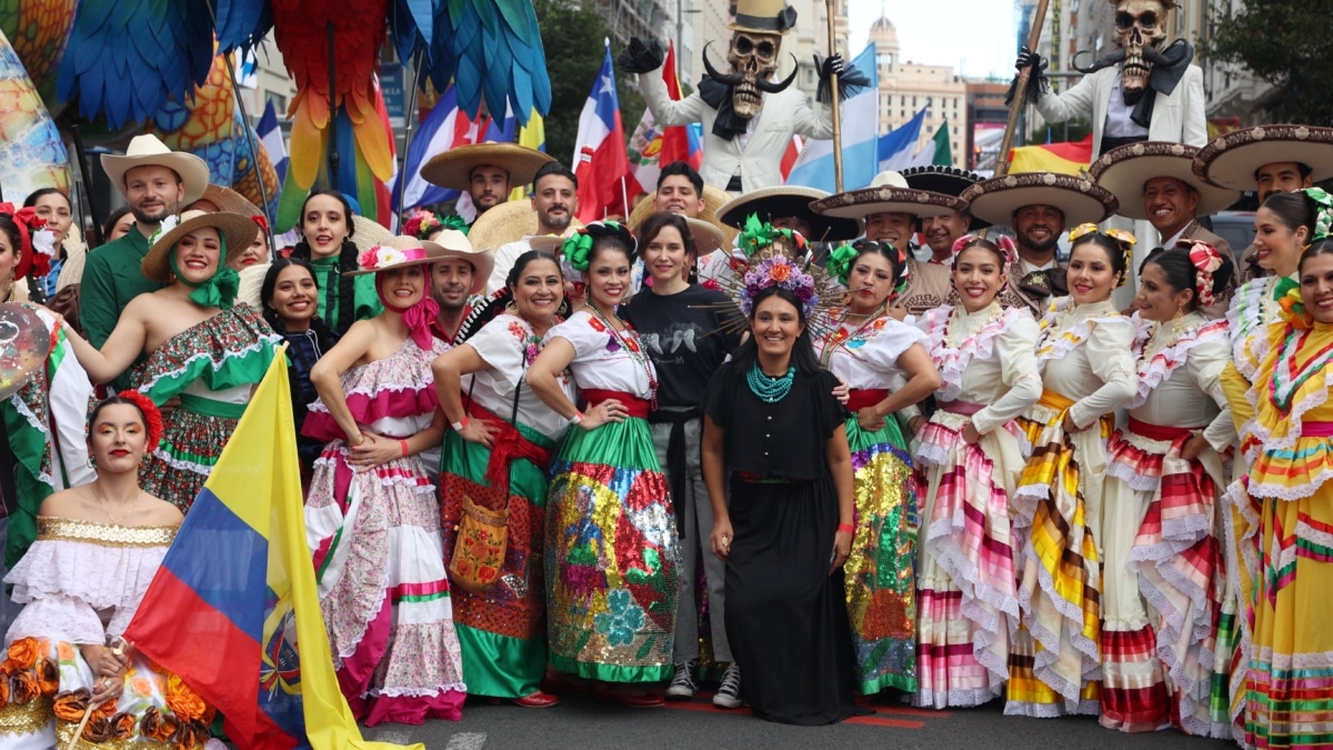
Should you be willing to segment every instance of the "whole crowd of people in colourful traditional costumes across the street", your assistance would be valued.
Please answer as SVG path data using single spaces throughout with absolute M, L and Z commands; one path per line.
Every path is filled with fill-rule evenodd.
M 881 697 L 1333 741 L 1314 168 L 1260 185 L 1233 255 L 1197 206 L 1236 148 L 837 195 L 718 198 L 677 163 L 587 226 L 575 173 L 515 149 L 433 167 L 476 183 L 471 227 L 393 236 L 316 191 L 284 250 L 152 136 L 104 157 L 132 223 L 103 247 L 59 191 L 0 206 L 7 360 L 36 362 L 3 402 L 0 746 L 208 738 L 212 710 L 120 637 L 279 356 L 367 725 L 714 683 L 794 725 Z M 1142 214 L 1162 242 L 1140 263 L 1112 218 L 1134 202 L 1170 207 Z

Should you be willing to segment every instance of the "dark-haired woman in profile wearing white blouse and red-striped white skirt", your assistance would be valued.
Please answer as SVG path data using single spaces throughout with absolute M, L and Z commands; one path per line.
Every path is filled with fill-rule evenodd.
M 1210 244 L 1154 250 L 1134 298 L 1138 394 L 1106 446 L 1101 725 L 1230 737 L 1214 726 L 1216 619 L 1225 591 L 1214 510 L 1236 438 L 1221 374 L 1226 322 L 1202 308 L 1232 263 Z

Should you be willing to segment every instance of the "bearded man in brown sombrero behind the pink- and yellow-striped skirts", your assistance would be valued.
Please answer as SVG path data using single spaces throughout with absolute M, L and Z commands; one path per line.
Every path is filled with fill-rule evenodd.
M 1026 306 L 1038 319 L 1052 298 L 1069 294 L 1056 247 L 1066 227 L 1105 222 L 1116 212 L 1116 196 L 1082 177 L 1025 172 L 982 180 L 960 196 L 973 216 L 1010 227 L 1018 262 L 1009 267 L 1005 307 Z

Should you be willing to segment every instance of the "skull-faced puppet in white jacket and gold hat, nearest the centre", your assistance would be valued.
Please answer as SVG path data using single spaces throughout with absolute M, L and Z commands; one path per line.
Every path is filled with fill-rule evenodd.
M 833 137 L 833 120 L 826 107 L 810 109 L 805 95 L 792 88 L 793 69 L 777 80 L 782 37 L 796 25 L 796 9 L 785 0 L 737 0 L 736 20 L 726 61 L 730 72 L 721 73 L 708 59 L 708 75 L 698 89 L 674 101 L 659 69 L 665 56 L 656 40 L 632 39 L 620 53 L 620 67 L 639 73 L 639 88 L 659 125 L 704 124 L 704 161 L 698 169 L 704 181 L 733 195 L 782 184 L 782 153 L 793 135 L 813 139 Z M 710 44 L 710 43 L 709 43 Z M 869 85 L 869 80 L 842 57 L 822 61 L 817 99 L 830 101 L 829 79 L 838 75 L 840 96 L 846 97 Z

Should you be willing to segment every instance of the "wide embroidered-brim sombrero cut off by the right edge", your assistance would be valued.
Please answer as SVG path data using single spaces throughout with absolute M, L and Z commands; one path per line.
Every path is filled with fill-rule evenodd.
M 1265 164 L 1297 161 L 1314 181 L 1333 177 L 1333 128 L 1256 125 L 1222 133 L 1194 155 L 1194 173 L 1230 190 L 1254 190 L 1254 172 Z

